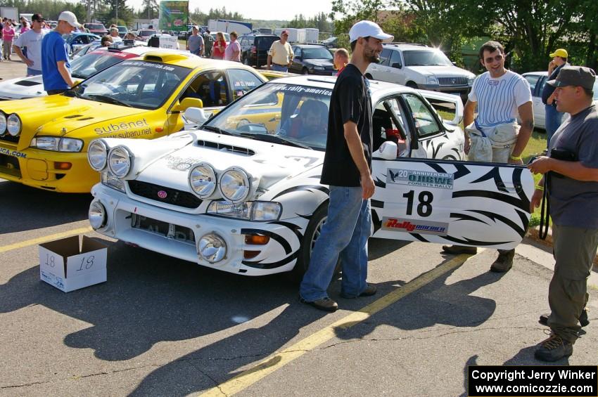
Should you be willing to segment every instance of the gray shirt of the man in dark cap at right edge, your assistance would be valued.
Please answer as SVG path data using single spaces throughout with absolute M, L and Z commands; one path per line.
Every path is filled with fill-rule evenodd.
M 550 139 L 553 148 L 575 152 L 585 167 L 598 168 L 598 110 L 596 105 L 564 122 Z M 598 182 L 567 176 L 549 177 L 552 221 L 559 226 L 598 229 Z

